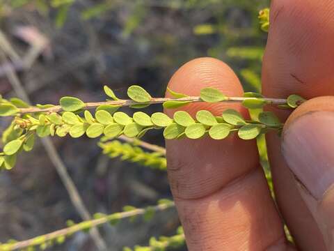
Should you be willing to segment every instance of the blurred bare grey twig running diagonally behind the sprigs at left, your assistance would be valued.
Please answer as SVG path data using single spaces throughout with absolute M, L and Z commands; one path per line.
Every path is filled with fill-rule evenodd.
M 2 40 L 3 39 L 6 39 L 6 38 L 2 37 Z M 2 41 L 0 40 L 0 46 L 1 45 L 2 45 Z M 3 59 L 3 61 L 5 61 L 5 63 L 8 64 L 6 56 L 3 54 L 3 52 L 1 52 L 0 56 Z M 15 90 L 17 95 L 23 100 L 25 100 L 26 102 L 31 103 L 29 100 L 29 96 L 26 94 L 26 91 L 24 90 L 21 82 L 19 81 L 19 77 L 17 76 L 13 68 L 10 68 L 10 70 L 6 72 L 6 76 L 10 84 L 12 84 L 13 89 Z M 81 218 L 83 218 L 84 220 L 90 220 L 91 219 L 90 213 L 88 212 L 86 206 L 84 206 L 84 202 L 82 201 L 79 195 L 79 192 L 77 188 L 75 187 L 74 182 L 72 181 L 72 178 L 70 178 L 70 175 L 68 174 L 63 161 L 58 155 L 56 151 L 56 147 L 51 142 L 51 139 L 43 138 L 42 144 L 45 146 L 45 150 L 47 151 L 47 154 L 49 155 L 51 162 L 54 164 L 54 167 L 56 167 L 56 171 L 58 172 L 58 175 L 60 176 L 61 181 L 63 182 L 63 185 L 65 186 L 70 196 L 70 199 L 72 201 L 72 204 L 74 205 L 74 208 L 76 208 Z M 106 243 L 104 242 L 102 236 L 97 231 L 97 229 L 95 228 L 91 229 L 90 235 L 92 236 L 99 250 L 107 249 Z

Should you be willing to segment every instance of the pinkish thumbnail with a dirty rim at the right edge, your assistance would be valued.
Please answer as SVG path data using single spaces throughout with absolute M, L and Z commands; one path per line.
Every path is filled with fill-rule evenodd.
M 310 194 L 319 200 L 334 183 L 334 112 L 310 112 L 283 133 L 287 165 Z

